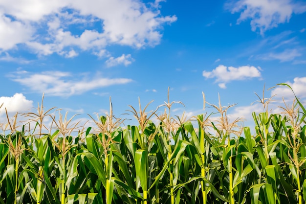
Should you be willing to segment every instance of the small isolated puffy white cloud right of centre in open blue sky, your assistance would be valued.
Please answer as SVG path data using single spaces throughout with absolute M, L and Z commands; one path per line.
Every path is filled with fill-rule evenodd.
M 261 77 L 261 68 L 254 66 L 241 66 L 238 68 L 225 67 L 224 65 L 219 65 L 212 71 L 203 71 L 203 76 L 208 78 L 216 78 L 216 82 L 219 82 L 219 87 L 221 89 L 226 88 L 226 83 L 230 81 L 245 80 L 254 77 Z

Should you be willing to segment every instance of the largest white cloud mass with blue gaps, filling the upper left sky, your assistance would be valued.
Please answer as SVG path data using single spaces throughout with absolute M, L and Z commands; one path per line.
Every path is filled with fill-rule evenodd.
M 159 2 L 1 0 L 0 52 L 25 45 L 38 55 L 69 58 L 85 50 L 100 53 L 110 45 L 158 45 L 163 25 L 176 21 L 160 14 Z

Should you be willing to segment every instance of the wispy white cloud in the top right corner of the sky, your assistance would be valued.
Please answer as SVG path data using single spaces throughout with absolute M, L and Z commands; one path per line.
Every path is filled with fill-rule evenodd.
M 305 2 L 291 0 L 239 0 L 227 7 L 232 13 L 241 12 L 238 24 L 251 19 L 252 31 L 259 29 L 261 34 L 280 23 L 289 22 L 293 13 L 306 11 Z

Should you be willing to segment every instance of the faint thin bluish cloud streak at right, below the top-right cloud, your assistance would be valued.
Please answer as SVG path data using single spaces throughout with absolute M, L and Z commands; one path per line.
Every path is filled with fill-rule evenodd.
M 294 60 L 296 57 L 302 56 L 298 49 L 285 49 L 283 52 L 270 52 L 259 55 L 258 58 L 262 60 L 280 60 L 281 62 L 288 62 Z

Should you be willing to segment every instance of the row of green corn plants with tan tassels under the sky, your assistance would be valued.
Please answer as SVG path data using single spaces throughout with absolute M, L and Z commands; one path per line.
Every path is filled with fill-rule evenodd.
M 181 102 L 169 93 L 162 114 L 131 107 L 137 126 L 123 126 L 111 103 L 84 128 L 42 101 L 23 115 L 30 122 L 17 127 L 16 114 L 2 125 L 0 204 L 305 203 L 306 110 L 297 97 L 282 113 L 269 112 L 270 99 L 259 102 L 264 111 L 253 113 L 250 130 L 228 119 L 231 106 L 205 100 L 218 114 L 172 116 Z

